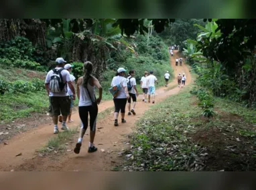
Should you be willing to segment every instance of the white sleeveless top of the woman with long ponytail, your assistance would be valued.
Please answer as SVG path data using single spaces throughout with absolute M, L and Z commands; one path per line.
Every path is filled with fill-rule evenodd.
M 95 87 L 92 87 L 90 85 L 90 83 L 87 83 L 87 88 L 88 88 L 88 91 L 90 92 L 90 96 L 88 95 L 88 91 L 86 88 L 84 88 L 82 83 L 81 83 L 81 85 L 79 85 L 80 99 L 79 99 L 78 107 L 92 105 L 92 101 L 91 101 L 90 97 L 92 97 L 92 100 L 95 101 L 95 97 L 94 97 Z

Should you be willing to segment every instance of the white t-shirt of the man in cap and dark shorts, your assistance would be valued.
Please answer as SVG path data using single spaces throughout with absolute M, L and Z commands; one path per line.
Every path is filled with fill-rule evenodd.
M 61 67 L 56 67 L 55 69 L 62 69 Z M 52 77 L 52 74 L 54 73 L 54 71 L 49 71 L 46 75 L 46 81 L 45 83 L 50 83 L 50 80 L 51 80 L 51 77 Z M 70 73 L 64 69 L 61 71 L 61 75 L 62 75 L 62 79 L 64 81 L 64 83 L 66 83 L 64 89 L 62 90 L 62 92 L 60 93 L 52 93 L 50 92 L 49 96 L 52 97 L 52 96 L 60 96 L 60 97 L 65 97 L 65 96 L 68 96 L 68 93 L 67 93 L 67 85 L 68 85 L 68 82 L 71 81 L 70 79 Z

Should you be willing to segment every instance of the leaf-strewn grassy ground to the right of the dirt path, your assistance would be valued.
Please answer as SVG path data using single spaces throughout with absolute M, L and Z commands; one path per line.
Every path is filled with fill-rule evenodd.
M 255 112 L 216 98 L 221 113 L 202 117 L 191 88 L 141 117 L 123 152 L 123 171 L 255 171 Z

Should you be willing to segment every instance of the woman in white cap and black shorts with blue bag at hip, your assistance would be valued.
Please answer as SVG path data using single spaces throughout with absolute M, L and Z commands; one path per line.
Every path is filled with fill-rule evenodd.
M 125 72 L 126 70 L 124 68 L 119 68 L 117 70 L 117 74 L 115 77 L 113 77 L 113 80 L 111 82 L 111 87 L 120 87 L 117 95 L 113 96 L 113 101 L 115 103 L 115 126 L 118 126 L 118 115 L 119 111 L 121 111 L 121 119 L 122 123 L 126 123 L 125 121 L 125 105 L 127 103 L 127 99 L 129 99 L 129 92 L 127 89 L 127 79 L 125 79 Z

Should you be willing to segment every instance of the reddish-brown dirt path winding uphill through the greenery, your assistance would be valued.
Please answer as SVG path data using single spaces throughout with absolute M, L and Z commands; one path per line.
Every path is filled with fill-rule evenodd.
M 177 52 L 174 51 L 174 57 L 170 58 L 175 78 L 178 73 L 185 73 L 187 77 L 186 85 L 188 85 L 191 82 L 189 69 L 184 63 L 182 66 L 175 66 L 176 55 Z M 169 87 L 175 84 L 177 84 L 176 79 L 169 84 Z M 166 87 L 157 89 L 155 103 L 163 101 L 166 97 L 174 95 L 181 90 L 179 87 L 175 87 L 170 91 L 166 91 L 166 89 Z M 97 128 L 103 127 L 97 130 L 94 142 L 99 151 L 87 153 L 88 136 L 85 136 L 79 155 L 70 152 L 65 156 L 56 155 L 54 158 L 39 157 L 35 154 L 35 151 L 43 147 L 48 139 L 53 136 L 52 122 L 47 121 L 46 124 L 39 126 L 38 129 L 16 135 L 9 141 L 8 145 L 0 145 L 0 171 L 10 171 L 11 169 L 15 169 L 15 171 L 109 171 L 112 166 L 119 162 L 118 153 L 125 147 L 125 143 L 123 143 L 126 139 L 125 136 L 132 132 L 135 122 L 153 105 L 152 103 L 144 103 L 141 99 L 142 96 L 139 95 L 138 103 L 135 107 L 136 115 L 125 116 L 127 123 L 120 123 L 119 127 L 115 127 L 113 125 L 113 114 L 98 121 Z M 99 112 L 109 107 L 113 107 L 113 101 L 101 103 Z M 70 123 L 68 126 L 70 128 L 79 126 L 80 118 L 78 112 L 73 113 L 72 118 L 74 123 Z M 73 149 L 75 143 L 76 139 L 68 145 L 68 149 Z M 105 152 L 101 152 L 101 149 L 105 149 Z M 18 153 L 22 153 L 22 155 L 15 157 Z

